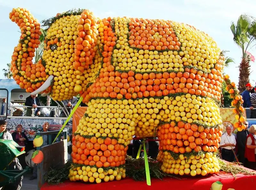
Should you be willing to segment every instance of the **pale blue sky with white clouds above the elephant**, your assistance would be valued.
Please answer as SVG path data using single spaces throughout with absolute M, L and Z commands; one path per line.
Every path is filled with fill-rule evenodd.
M 74 4 L 70 2 L 74 2 Z M 241 0 L 129 0 L 128 2 L 116 0 L 43 0 L 39 2 L 0 0 L 0 79 L 4 78 L 2 70 L 6 67 L 6 63 L 10 62 L 13 48 L 17 45 L 20 36 L 18 26 L 9 20 L 9 12 L 12 11 L 12 8 L 26 8 L 39 21 L 72 8 L 85 8 L 90 9 L 96 17 L 100 18 L 127 16 L 175 20 L 193 25 L 212 36 L 220 49 L 230 51 L 227 55 L 235 59 L 235 64 L 231 64 L 225 69 L 225 72 L 230 75 L 232 81 L 238 83 L 239 71 L 237 66 L 240 63 L 242 51 L 233 42 L 230 24 L 231 21 L 236 22 L 239 15 L 243 13 L 256 17 L 256 1 L 244 0 L 242 3 Z M 255 46 L 250 52 L 256 57 Z M 254 74 L 256 62 L 251 62 L 251 72 L 250 80 L 254 84 L 256 81 Z

